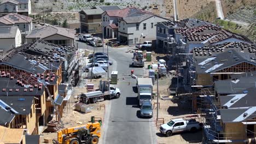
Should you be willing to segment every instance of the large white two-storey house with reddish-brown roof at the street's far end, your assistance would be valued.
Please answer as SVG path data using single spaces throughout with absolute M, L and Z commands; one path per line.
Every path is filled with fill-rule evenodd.
M 102 13 L 104 36 L 118 38 L 121 43 L 137 44 L 156 39 L 155 24 L 169 21 L 164 17 L 138 8 L 106 10 Z

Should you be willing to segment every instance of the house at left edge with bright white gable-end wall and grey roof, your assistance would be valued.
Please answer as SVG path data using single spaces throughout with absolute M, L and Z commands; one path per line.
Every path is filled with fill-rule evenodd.
M 21 32 L 17 26 L 0 27 L 0 53 L 21 45 Z

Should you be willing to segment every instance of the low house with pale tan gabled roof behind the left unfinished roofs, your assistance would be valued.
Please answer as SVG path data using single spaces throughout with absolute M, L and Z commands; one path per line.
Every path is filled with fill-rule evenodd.
M 55 27 L 55 26 L 43 26 L 33 29 L 27 36 L 27 43 L 33 40 L 42 39 L 62 46 L 73 46 L 74 45 L 74 30 Z

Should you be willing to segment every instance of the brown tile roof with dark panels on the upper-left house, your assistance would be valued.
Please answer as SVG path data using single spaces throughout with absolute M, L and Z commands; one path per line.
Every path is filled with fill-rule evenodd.
M 0 22 L 4 23 L 5 25 L 13 25 L 14 23 L 32 22 L 32 18 L 24 15 L 10 13 L 0 17 Z

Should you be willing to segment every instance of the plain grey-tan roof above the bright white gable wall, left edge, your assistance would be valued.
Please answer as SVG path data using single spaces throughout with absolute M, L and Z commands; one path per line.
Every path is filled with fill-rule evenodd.
M 17 30 L 16 26 L 2 26 L 0 27 L 0 39 L 15 38 Z

